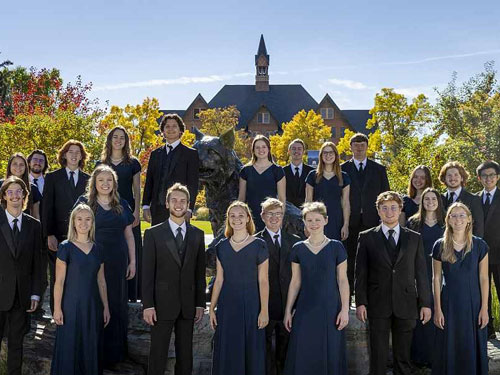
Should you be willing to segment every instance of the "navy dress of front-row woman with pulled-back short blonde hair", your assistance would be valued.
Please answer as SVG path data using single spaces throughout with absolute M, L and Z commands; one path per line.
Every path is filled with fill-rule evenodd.
M 330 240 L 318 254 L 297 242 L 290 260 L 300 265 L 301 286 L 285 363 L 286 375 L 347 374 L 344 330 L 336 326 L 342 308 L 337 266 L 347 260 L 340 241 Z

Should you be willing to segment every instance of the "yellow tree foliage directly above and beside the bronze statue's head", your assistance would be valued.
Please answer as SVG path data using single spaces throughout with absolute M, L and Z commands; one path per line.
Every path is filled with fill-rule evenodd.
M 209 108 L 200 112 L 200 130 L 207 135 L 220 136 L 230 128 L 236 129 L 240 117 L 240 111 L 232 105 L 225 108 Z M 234 151 L 242 163 L 246 163 L 252 157 L 250 150 L 252 140 L 245 131 L 235 131 Z

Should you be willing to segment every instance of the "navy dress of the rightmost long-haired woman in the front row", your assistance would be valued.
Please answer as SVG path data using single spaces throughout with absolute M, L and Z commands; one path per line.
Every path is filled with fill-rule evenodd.
M 487 328 L 478 325 L 481 310 L 479 262 L 488 253 L 488 245 L 473 237 L 471 251 L 455 251 L 457 261 L 442 262 L 443 288 L 441 308 L 444 330 L 436 329 L 433 375 L 487 375 Z M 434 245 L 432 257 L 441 261 L 441 243 Z

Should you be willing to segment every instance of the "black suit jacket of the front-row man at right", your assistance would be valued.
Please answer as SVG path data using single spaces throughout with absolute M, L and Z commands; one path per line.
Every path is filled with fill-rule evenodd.
M 369 318 L 417 319 L 419 307 L 431 306 L 430 286 L 420 234 L 401 227 L 394 266 L 385 249 L 382 226 L 359 234 L 356 254 L 356 306 Z

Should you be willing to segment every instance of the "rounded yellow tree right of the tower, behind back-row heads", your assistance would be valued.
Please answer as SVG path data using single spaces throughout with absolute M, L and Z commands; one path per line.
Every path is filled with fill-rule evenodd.
M 278 164 L 285 165 L 288 161 L 288 145 L 295 138 L 300 138 L 306 144 L 306 150 L 319 150 L 321 145 L 332 136 L 332 130 L 325 125 L 323 118 L 313 110 L 301 110 L 292 120 L 283 123 L 283 133 L 270 137 L 271 149 Z M 307 155 L 304 155 L 304 160 Z

